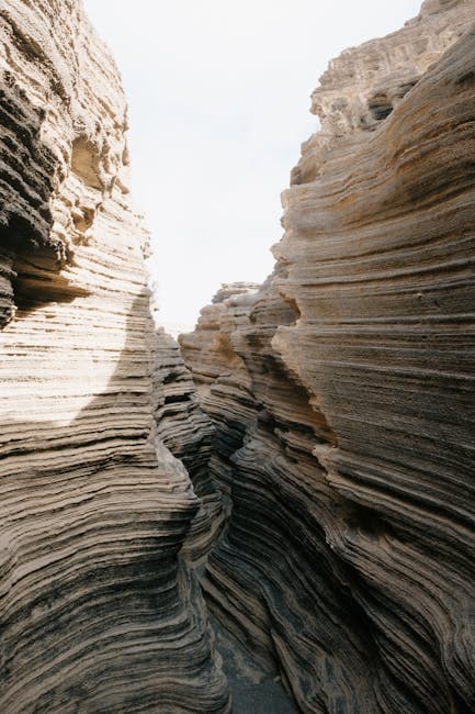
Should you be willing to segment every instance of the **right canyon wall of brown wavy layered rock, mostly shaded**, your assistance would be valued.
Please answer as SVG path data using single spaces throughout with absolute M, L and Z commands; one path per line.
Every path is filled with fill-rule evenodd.
M 343 53 L 273 276 L 182 336 L 213 612 L 302 712 L 475 711 L 475 2 Z

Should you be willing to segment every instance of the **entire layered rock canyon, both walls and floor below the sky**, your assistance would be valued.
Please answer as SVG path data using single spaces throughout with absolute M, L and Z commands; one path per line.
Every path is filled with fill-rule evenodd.
M 0 2 L 0 712 L 475 711 L 475 0 L 332 60 L 262 283 L 150 313 L 78 0 Z

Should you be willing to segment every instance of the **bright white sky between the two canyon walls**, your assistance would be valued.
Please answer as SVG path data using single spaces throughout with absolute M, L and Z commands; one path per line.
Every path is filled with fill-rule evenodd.
M 192 326 L 220 282 L 261 281 L 280 192 L 316 129 L 329 59 L 421 0 L 84 0 L 129 103 L 135 202 L 152 233 L 159 321 Z

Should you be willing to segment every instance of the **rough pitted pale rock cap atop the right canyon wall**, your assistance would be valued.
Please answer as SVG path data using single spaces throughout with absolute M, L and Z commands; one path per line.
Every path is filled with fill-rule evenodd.
M 348 170 L 352 153 L 474 20 L 471 0 L 428 0 L 403 30 L 352 47 L 331 60 L 312 94 L 320 130 L 302 145 L 292 183 Z M 329 159 L 329 167 L 326 164 Z

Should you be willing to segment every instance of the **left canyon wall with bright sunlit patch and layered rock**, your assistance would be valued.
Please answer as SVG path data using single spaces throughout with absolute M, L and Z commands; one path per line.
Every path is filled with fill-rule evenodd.
M 116 67 L 76 0 L 1 0 L 0 37 L 0 711 L 228 711 Z

